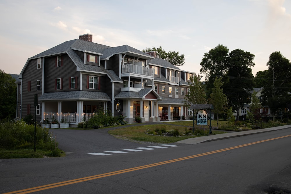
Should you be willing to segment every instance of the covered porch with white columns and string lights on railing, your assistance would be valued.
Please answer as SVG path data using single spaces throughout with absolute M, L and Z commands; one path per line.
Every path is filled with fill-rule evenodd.
M 75 95 L 79 98 L 75 97 L 76 92 Z M 56 99 L 55 96 L 64 98 Z M 51 121 L 54 117 L 59 122 L 64 120 L 71 124 L 78 124 L 92 118 L 97 110 L 103 109 L 105 112 L 110 98 L 104 92 L 75 91 L 45 93 L 39 97 L 39 100 L 42 102 L 42 120 L 48 118 Z

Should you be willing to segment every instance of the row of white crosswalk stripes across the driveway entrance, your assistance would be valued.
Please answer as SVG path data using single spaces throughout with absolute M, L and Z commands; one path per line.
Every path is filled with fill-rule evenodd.
M 107 153 L 112 153 L 112 154 L 123 154 L 123 153 L 129 153 L 129 152 L 141 152 L 144 150 L 154 150 L 154 149 L 164 149 L 164 148 L 168 148 L 168 147 L 179 147 L 178 145 L 171 145 L 171 144 L 160 144 L 160 145 L 151 145 L 151 146 L 147 146 L 147 147 L 135 147 L 133 149 L 120 149 L 120 151 L 104 151 Z M 125 151 L 129 151 L 129 152 L 125 152 Z M 106 156 L 106 155 L 112 155 L 112 154 L 106 154 L 106 153 L 88 153 L 91 155 L 97 155 L 97 156 Z

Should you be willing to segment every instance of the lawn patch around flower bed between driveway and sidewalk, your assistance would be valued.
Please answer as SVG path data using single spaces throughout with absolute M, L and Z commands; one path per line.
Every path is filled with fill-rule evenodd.
M 173 122 L 174 123 L 174 122 Z M 113 129 L 108 131 L 109 134 L 116 138 L 125 139 L 129 141 L 141 141 L 141 142 L 152 142 L 152 143 L 173 143 L 180 140 L 194 138 L 201 135 L 185 135 L 185 136 L 158 136 L 146 134 L 145 131 L 155 130 L 155 129 L 165 129 L 166 131 L 179 130 L 181 133 L 184 133 L 186 130 L 189 130 L 189 127 L 176 126 L 176 125 L 167 125 L 167 124 L 152 124 L 152 125 L 143 125 L 143 126 L 134 126 L 134 127 L 125 127 L 120 129 Z M 209 133 L 209 130 L 205 131 Z M 225 133 L 221 131 L 212 131 L 213 134 Z

